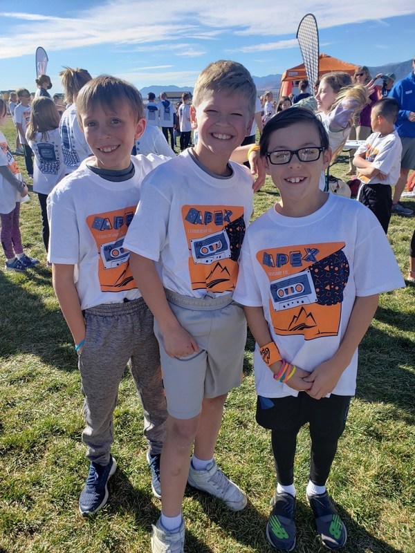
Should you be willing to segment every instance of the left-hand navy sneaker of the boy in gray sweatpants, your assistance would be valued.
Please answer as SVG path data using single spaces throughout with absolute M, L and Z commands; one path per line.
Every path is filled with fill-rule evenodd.
M 107 482 L 117 469 L 117 462 L 111 455 L 108 465 L 91 462 L 84 489 L 80 495 L 80 512 L 83 516 L 95 514 L 108 500 Z

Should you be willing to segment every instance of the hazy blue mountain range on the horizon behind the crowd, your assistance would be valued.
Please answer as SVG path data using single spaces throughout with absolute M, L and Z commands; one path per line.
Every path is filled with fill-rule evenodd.
M 385 64 L 378 67 L 369 67 L 368 69 L 370 71 L 370 74 L 374 77 L 378 73 L 395 73 L 396 79 L 403 79 L 412 69 L 412 59 L 408 59 L 407 62 L 398 62 L 393 64 Z M 276 88 L 279 88 L 281 84 L 281 77 L 282 75 L 276 74 L 276 75 L 266 75 L 265 77 L 256 77 L 255 75 L 252 75 L 252 79 L 255 82 L 255 86 L 257 86 L 257 90 L 264 91 L 264 90 L 275 90 Z M 140 93 L 142 94 L 142 97 L 147 97 L 147 93 L 154 92 L 156 97 L 161 92 L 174 92 L 174 91 L 186 91 L 186 92 L 193 92 L 193 86 L 175 86 L 174 84 L 169 84 L 167 86 L 145 86 L 144 88 L 140 89 Z

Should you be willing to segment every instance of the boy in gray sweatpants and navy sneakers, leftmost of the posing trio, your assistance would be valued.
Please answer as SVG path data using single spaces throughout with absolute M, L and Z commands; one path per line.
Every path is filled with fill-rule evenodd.
M 145 129 L 140 93 L 115 77 L 92 79 L 77 97 L 77 117 L 93 156 L 48 197 L 53 286 L 75 341 L 84 393 L 82 439 L 91 464 L 80 495 L 83 515 L 108 499 L 116 471 L 113 411 L 129 364 L 142 401 L 151 487 L 160 497 L 166 401 L 153 316 L 133 280 L 123 242 L 142 179 L 163 156 L 131 156 Z

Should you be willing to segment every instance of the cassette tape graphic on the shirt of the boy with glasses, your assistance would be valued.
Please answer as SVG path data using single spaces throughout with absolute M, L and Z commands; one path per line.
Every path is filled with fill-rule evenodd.
M 317 302 L 317 294 L 309 270 L 271 282 L 270 292 L 275 311 Z

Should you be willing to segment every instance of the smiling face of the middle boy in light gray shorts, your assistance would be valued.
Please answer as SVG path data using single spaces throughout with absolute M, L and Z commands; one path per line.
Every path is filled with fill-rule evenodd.
M 199 106 L 190 107 L 192 126 L 199 133 L 194 152 L 215 174 L 223 174 L 230 154 L 250 130 L 253 115 L 247 103 L 243 95 L 233 91 L 209 91 Z

